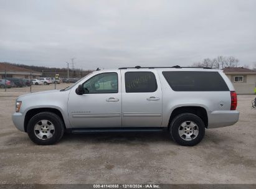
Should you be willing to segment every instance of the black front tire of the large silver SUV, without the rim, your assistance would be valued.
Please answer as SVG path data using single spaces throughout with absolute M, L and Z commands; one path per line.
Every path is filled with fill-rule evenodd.
M 49 139 L 39 139 L 35 134 L 34 128 L 37 122 L 40 122 L 41 120 L 47 120 L 54 124 L 54 134 Z M 42 112 L 36 114 L 29 120 L 29 123 L 27 124 L 27 134 L 31 141 L 38 145 L 52 145 L 62 138 L 65 130 L 64 128 L 64 123 L 59 116 L 50 112 Z

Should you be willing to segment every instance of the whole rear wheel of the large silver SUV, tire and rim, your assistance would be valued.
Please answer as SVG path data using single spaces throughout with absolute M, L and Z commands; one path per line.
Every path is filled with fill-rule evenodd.
M 173 140 L 178 144 L 192 146 L 202 141 L 205 126 L 199 116 L 183 113 L 171 121 L 169 131 Z

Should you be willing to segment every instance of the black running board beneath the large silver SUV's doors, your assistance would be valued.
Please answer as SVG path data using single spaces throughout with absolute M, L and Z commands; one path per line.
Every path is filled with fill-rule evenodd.
M 71 129 L 74 134 L 93 133 L 93 132 L 161 132 L 167 127 L 120 127 L 120 128 L 85 128 Z

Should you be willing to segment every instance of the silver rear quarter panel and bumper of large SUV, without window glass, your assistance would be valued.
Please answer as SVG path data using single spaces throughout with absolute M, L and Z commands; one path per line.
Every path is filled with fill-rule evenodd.
M 193 71 L 195 69 L 187 68 L 184 70 Z M 238 121 L 239 112 L 230 111 L 230 91 L 234 91 L 234 87 L 232 86 L 232 83 L 230 83 L 229 78 L 227 78 L 222 71 L 219 71 L 219 73 L 222 78 L 224 78 L 224 81 L 229 87 L 230 91 L 173 91 L 168 82 L 165 80 L 162 70 L 158 70 L 158 73 L 163 89 L 163 127 L 168 126 L 169 118 L 174 109 L 187 106 L 199 106 L 206 109 L 208 116 L 207 128 L 230 126 Z M 222 116 L 220 116 L 222 119 L 216 118 L 216 111 L 217 114 L 223 113 Z M 223 116 L 225 116 L 227 119 L 224 120 Z

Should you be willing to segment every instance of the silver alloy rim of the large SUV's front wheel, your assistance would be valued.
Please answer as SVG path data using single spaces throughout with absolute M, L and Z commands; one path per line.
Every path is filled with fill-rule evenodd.
M 41 120 L 35 125 L 34 132 L 37 138 L 41 140 L 46 140 L 54 136 L 55 127 L 52 122 L 48 120 Z

